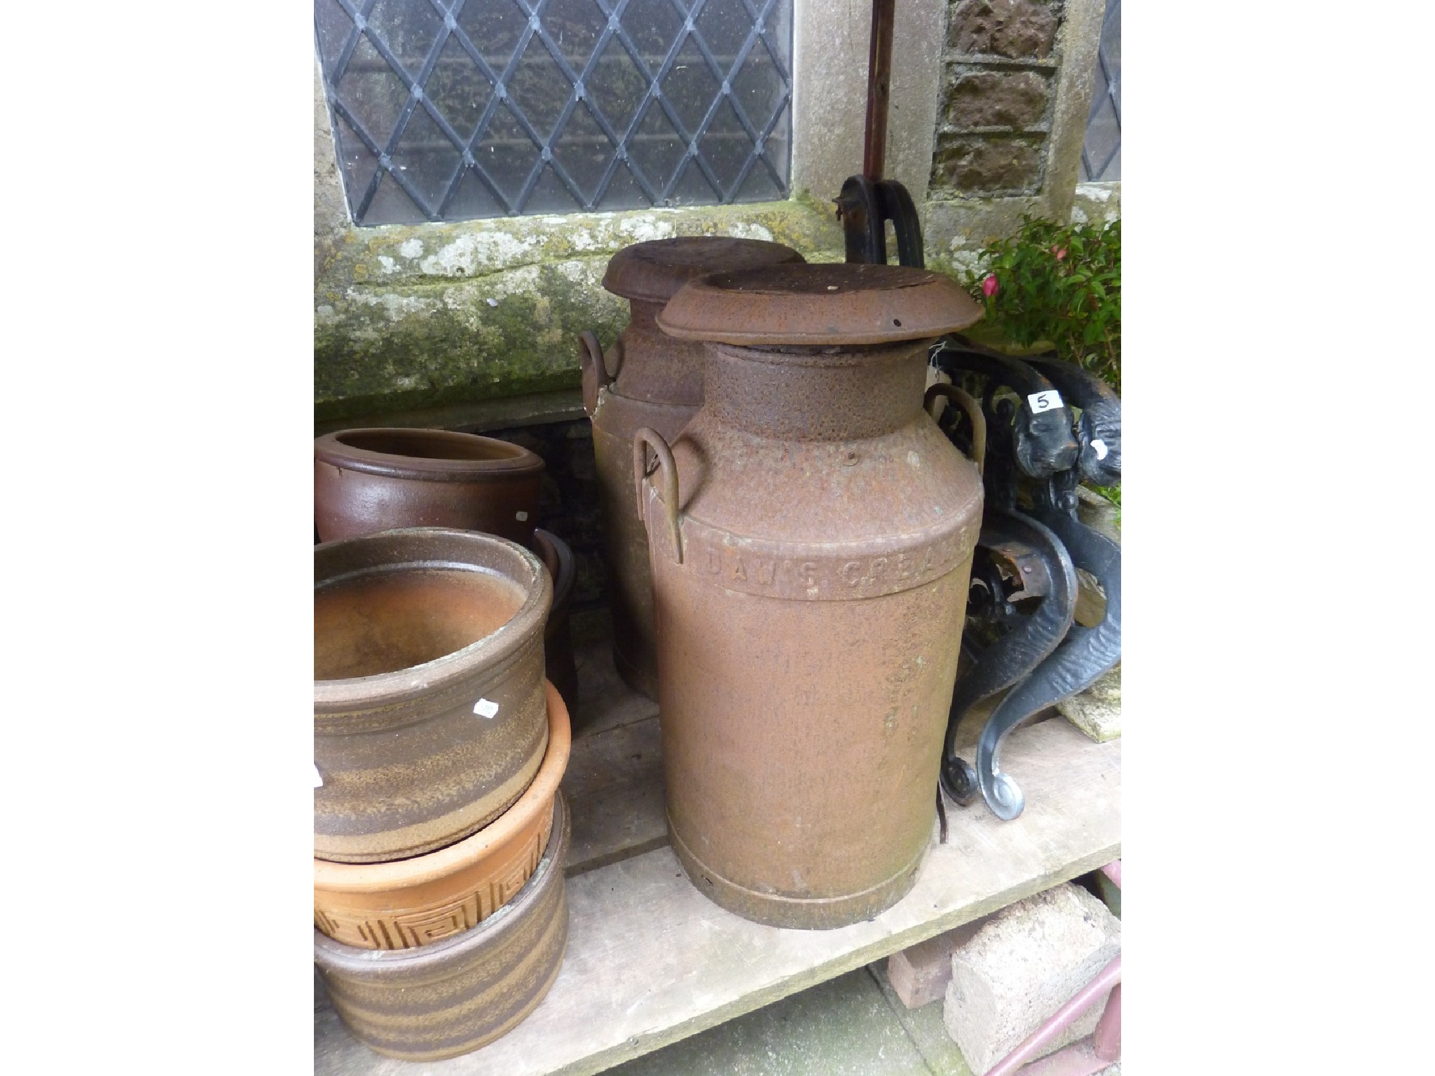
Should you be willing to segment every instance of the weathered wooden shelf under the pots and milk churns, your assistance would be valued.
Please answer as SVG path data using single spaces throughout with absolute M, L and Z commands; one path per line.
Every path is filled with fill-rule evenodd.
M 563 788 L 573 808 L 568 951 L 532 1014 L 446 1062 L 382 1057 L 354 1040 L 320 990 L 320 1076 L 587 1076 L 880 960 L 1121 855 L 1121 740 L 1065 720 L 1012 733 L 1002 768 L 1026 811 L 999 822 L 951 808 L 917 885 L 867 922 L 832 931 L 762 927 L 695 889 L 663 819 L 657 707 L 623 687 L 607 643 L 580 651 L 585 727 Z

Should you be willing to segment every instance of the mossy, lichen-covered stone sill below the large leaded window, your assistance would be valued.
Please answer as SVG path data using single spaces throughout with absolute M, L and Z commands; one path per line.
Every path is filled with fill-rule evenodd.
M 316 242 L 316 420 L 577 386 L 578 333 L 607 346 L 627 321 L 601 287 L 614 253 L 707 234 L 841 260 L 828 217 L 789 201 L 350 228 Z

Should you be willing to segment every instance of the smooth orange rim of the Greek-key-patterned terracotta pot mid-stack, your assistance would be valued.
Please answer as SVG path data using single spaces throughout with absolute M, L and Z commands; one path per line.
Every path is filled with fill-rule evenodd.
M 548 749 L 544 752 L 542 763 L 538 766 L 532 783 L 514 801 L 512 806 L 462 841 L 408 859 L 390 859 L 379 864 L 340 864 L 316 858 L 314 888 L 326 892 L 386 892 L 438 881 L 476 862 L 511 839 L 519 829 L 531 825 L 542 811 L 551 811 L 558 783 L 563 780 L 564 770 L 568 769 L 573 736 L 568 707 L 564 706 L 563 696 L 550 680 L 544 680 L 544 696 L 548 703 Z

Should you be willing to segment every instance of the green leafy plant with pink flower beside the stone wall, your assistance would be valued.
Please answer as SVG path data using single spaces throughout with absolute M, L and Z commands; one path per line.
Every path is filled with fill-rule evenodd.
M 1121 221 L 1058 225 L 1033 217 L 982 251 L 971 294 L 986 331 L 1056 356 L 1121 393 Z

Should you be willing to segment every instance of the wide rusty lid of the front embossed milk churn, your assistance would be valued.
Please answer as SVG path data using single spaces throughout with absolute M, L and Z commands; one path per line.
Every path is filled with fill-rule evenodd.
M 657 327 L 725 344 L 881 344 L 926 340 L 982 317 L 940 273 L 905 265 L 772 265 L 713 273 L 669 300 Z

